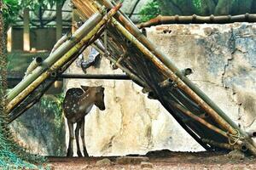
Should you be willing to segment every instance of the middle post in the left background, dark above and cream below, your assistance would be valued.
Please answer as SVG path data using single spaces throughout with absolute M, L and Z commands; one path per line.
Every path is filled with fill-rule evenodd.
M 23 10 L 23 50 L 30 50 L 30 31 L 29 31 L 29 8 L 24 8 Z

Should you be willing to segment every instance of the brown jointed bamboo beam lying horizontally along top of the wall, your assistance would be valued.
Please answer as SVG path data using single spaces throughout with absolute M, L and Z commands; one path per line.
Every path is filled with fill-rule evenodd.
M 138 24 L 138 28 L 158 26 L 163 24 L 228 24 L 234 22 L 256 22 L 256 14 L 240 15 L 222 15 L 222 16 L 199 16 L 196 14 L 190 16 L 162 16 L 158 15 L 154 19 Z

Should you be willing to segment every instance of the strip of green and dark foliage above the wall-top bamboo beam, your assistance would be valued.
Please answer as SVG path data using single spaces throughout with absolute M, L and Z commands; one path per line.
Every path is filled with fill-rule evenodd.
M 256 11 L 255 0 L 152 0 L 141 10 L 141 21 L 162 15 L 246 14 Z

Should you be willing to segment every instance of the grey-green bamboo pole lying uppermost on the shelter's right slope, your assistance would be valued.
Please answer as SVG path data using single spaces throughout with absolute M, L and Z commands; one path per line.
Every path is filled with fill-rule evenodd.
M 109 1 L 109 0 L 97 0 L 99 1 L 100 3 L 102 3 L 104 6 L 106 6 L 107 8 L 112 8 L 113 7 L 113 4 Z M 96 4 L 96 3 L 94 3 Z M 187 77 L 184 77 L 182 72 L 179 71 L 177 69 L 177 67 L 172 63 L 172 60 L 170 59 L 170 57 L 166 56 L 166 54 L 163 54 L 158 48 L 156 48 L 154 46 L 154 44 L 152 42 L 150 42 L 148 40 L 147 37 L 145 37 L 143 35 L 143 33 L 141 31 L 138 30 L 137 26 L 135 26 L 131 20 L 128 19 L 128 17 L 125 15 L 125 14 L 122 14 L 121 12 L 118 12 L 116 15 L 116 18 L 125 26 L 125 28 L 131 32 L 131 35 L 133 36 L 133 38 L 137 38 L 137 40 L 141 43 L 143 43 L 143 45 L 148 48 L 148 50 L 150 50 L 150 52 L 152 54 L 154 54 L 158 59 L 160 59 L 160 61 L 162 62 L 162 64 L 166 65 L 166 67 L 168 69 L 170 69 L 172 71 L 172 75 L 175 74 L 175 77 L 179 77 L 180 78 L 180 81 L 184 87 L 186 88 L 191 88 L 192 90 L 189 90 L 189 91 L 192 91 L 191 93 L 192 94 L 196 94 L 198 95 L 201 99 L 199 99 L 200 102 L 198 102 L 199 105 L 202 105 L 203 106 L 205 105 L 207 108 L 209 108 L 212 113 L 214 113 L 214 115 L 216 113 L 218 113 L 218 117 L 221 116 L 224 120 L 224 124 L 225 124 L 225 127 L 228 127 L 230 129 L 230 131 L 232 133 L 236 133 L 236 130 L 234 130 L 233 128 L 237 129 L 239 131 L 239 133 L 241 133 L 243 136 L 247 137 L 248 138 L 248 135 L 247 133 L 243 132 L 241 130 L 241 128 L 239 128 L 235 122 L 233 122 L 230 117 L 226 116 L 224 111 L 222 111 L 218 105 L 214 104 L 212 102 L 211 99 L 209 99 L 207 97 L 206 94 L 204 94 L 199 88 L 197 88 L 195 86 L 195 84 L 191 81 L 189 81 L 189 79 Z M 130 33 L 129 32 L 129 33 Z M 173 75 L 174 76 L 174 75 Z M 184 83 L 183 83 L 184 82 Z M 188 87 L 187 87 L 188 86 Z M 193 96 L 192 99 L 194 99 L 195 97 Z M 196 99 L 198 100 L 198 98 Z M 209 114 L 212 116 L 212 114 Z M 213 116 L 213 118 L 216 117 L 216 116 Z M 214 118 L 215 119 L 215 118 Z M 223 123 L 219 123 L 219 124 L 223 124 Z M 233 128 L 231 128 L 233 127 Z

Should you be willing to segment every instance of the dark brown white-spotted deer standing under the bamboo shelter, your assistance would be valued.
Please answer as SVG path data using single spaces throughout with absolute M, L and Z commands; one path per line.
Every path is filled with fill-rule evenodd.
M 67 125 L 69 129 L 68 157 L 73 156 L 74 123 L 77 123 L 75 139 L 78 148 L 78 156 L 82 156 L 79 147 L 79 132 L 83 143 L 84 156 L 88 156 L 84 141 L 84 116 L 90 112 L 93 105 L 96 105 L 101 111 L 105 110 L 104 88 L 102 88 L 102 86 L 81 86 L 81 88 L 70 88 L 67 90 L 63 101 L 63 111 L 64 115 L 67 117 Z

